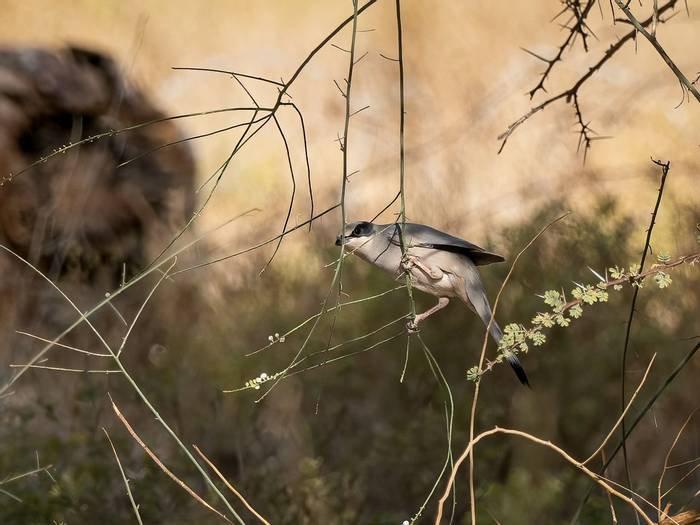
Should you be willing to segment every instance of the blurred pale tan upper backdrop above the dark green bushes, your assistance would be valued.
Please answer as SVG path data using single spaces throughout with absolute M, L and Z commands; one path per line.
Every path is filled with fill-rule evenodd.
M 691 7 L 693 2 L 690 2 Z M 490 221 L 511 221 L 543 198 L 566 195 L 586 202 L 610 191 L 645 198 L 654 183 L 649 157 L 673 162 L 670 190 L 682 192 L 697 175 L 700 106 L 683 104 L 678 82 L 643 39 L 629 46 L 584 86 L 581 102 L 591 126 L 611 140 L 598 141 L 586 165 L 577 154 L 573 110 L 559 102 L 532 118 L 497 155 L 497 135 L 530 106 L 524 93 L 543 64 L 523 53 L 555 52 L 564 33 L 547 23 L 558 2 L 404 2 L 407 94 L 407 189 L 410 218 L 480 235 Z M 698 10 L 683 9 L 659 38 L 680 68 L 694 78 L 700 68 L 694 36 Z M 7 2 L 0 34 L 6 45 L 96 47 L 117 57 L 169 114 L 248 105 L 234 81 L 171 66 L 232 69 L 286 78 L 324 35 L 351 12 L 350 2 Z M 639 11 L 640 16 L 642 11 Z M 352 120 L 348 193 L 350 219 L 373 216 L 398 185 L 398 96 L 393 2 L 378 2 L 361 15 L 353 107 L 371 108 Z M 554 94 L 598 59 L 627 25 L 612 26 L 610 13 L 592 13 L 599 41 L 566 54 L 546 87 Z M 697 27 L 697 25 L 695 25 Z M 349 32 L 334 42 L 348 47 Z M 346 74 L 347 55 L 324 49 L 290 90 L 306 116 L 318 207 L 337 201 L 343 100 L 332 83 Z M 254 83 L 249 83 L 255 87 Z M 270 103 L 274 93 L 256 91 Z M 267 96 L 264 96 L 267 94 Z M 537 95 L 535 102 L 543 94 Z M 181 121 L 188 134 L 211 131 L 235 116 Z M 298 178 L 293 221 L 307 213 L 301 141 L 295 115 L 282 118 L 294 151 Z M 193 142 L 200 178 L 215 169 L 234 143 L 229 132 Z M 273 126 L 246 146 L 222 182 L 222 191 L 201 221 L 215 225 L 250 207 L 263 210 L 247 224 L 256 233 L 279 229 L 290 193 L 282 143 Z M 628 204 L 635 200 L 625 199 Z M 390 220 L 390 215 L 385 215 Z M 322 221 L 337 230 L 338 216 Z M 219 234 L 226 247 L 239 243 Z M 260 235 L 256 236 L 261 238 Z M 297 236 L 299 237 L 299 236 Z M 319 239 L 321 240 L 321 239 Z

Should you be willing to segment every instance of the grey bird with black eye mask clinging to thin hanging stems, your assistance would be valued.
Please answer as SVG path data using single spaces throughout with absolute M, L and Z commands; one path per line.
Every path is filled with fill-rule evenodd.
M 401 234 L 405 256 L 401 250 Z M 343 242 L 349 253 L 396 277 L 408 273 L 412 287 L 438 298 L 435 306 L 409 321 L 409 331 L 416 331 L 421 321 L 445 308 L 451 297 L 461 299 L 488 326 L 491 306 L 476 267 L 503 262 L 502 256 L 430 226 L 412 223 L 402 226 L 353 222 L 346 226 L 345 234 L 338 236 L 335 244 L 340 246 Z M 498 343 L 503 334 L 495 319 L 490 332 Z M 506 359 L 520 382 L 530 386 L 518 358 L 510 354 Z

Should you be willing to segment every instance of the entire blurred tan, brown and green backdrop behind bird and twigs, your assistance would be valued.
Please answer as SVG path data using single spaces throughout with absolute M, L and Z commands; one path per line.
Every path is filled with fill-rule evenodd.
M 600 5 L 598 5 L 600 4 Z M 647 5 L 649 4 L 649 5 Z M 395 4 L 378 1 L 358 22 L 348 138 L 346 210 L 369 220 L 399 189 L 399 90 Z M 697 123 L 700 106 L 683 99 L 678 81 L 646 40 L 627 44 L 584 84 L 585 121 L 605 140 L 592 143 L 584 163 L 576 114 L 552 104 L 519 127 L 498 154 L 497 137 L 546 97 L 568 89 L 606 49 L 629 32 L 598 2 L 588 25 L 595 34 L 564 54 L 539 92 L 529 92 L 544 64 L 521 48 L 554 56 L 566 38 L 557 1 L 527 3 L 403 2 L 406 78 L 406 207 L 409 220 L 466 238 L 510 261 L 545 224 L 572 211 L 523 256 L 497 318 L 527 323 L 544 306 L 536 294 L 595 282 L 588 267 L 629 266 L 644 247 L 660 180 L 651 158 L 670 160 L 654 229 L 654 253 L 698 251 Z M 695 78 L 700 6 L 678 4 L 657 29 L 678 67 Z M 639 18 L 651 3 L 635 5 Z M 136 275 L 168 247 L 210 194 L 212 174 L 226 161 L 243 122 L 222 112 L 169 120 L 112 135 L 109 130 L 220 108 L 250 107 L 230 76 L 175 67 L 216 68 L 288 81 L 308 53 L 347 16 L 351 2 L 8 2 L 0 18 L 0 238 L 54 280 L 83 311 Z M 624 16 L 616 12 L 616 16 Z M 304 116 L 314 212 L 338 203 L 350 26 L 314 56 L 289 89 Z M 341 49 L 339 49 L 341 48 Z M 39 51 L 37 51 L 39 50 Z M 382 56 L 384 55 L 384 57 Z M 385 58 L 385 57 L 388 57 Z M 245 82 L 261 106 L 276 89 Z M 681 103 L 682 102 L 682 103 Z M 248 116 L 250 113 L 248 113 Z M 290 227 L 309 217 L 304 139 L 298 115 L 279 112 L 296 179 Z M 109 136 L 72 148 L 17 173 L 56 148 L 97 133 Z M 154 151 L 156 150 L 157 151 Z M 134 160 L 132 160 L 134 159 Z M 130 161 L 122 165 L 125 161 Z M 198 188 L 201 190 L 198 191 Z M 277 235 L 293 183 L 284 142 L 272 124 L 233 157 L 211 200 L 176 247 L 175 270 L 245 250 Z M 230 219 L 256 210 L 233 222 Z M 378 220 L 391 222 L 398 203 Z M 402 323 L 405 291 L 394 291 L 325 316 L 303 355 L 317 353 L 259 403 L 263 390 L 223 393 L 261 373 L 287 366 L 312 323 L 268 346 L 316 314 L 328 294 L 340 231 L 339 210 L 286 236 L 261 274 L 275 243 L 165 279 L 150 299 L 124 354 L 126 368 L 186 444 L 195 443 L 271 523 L 401 523 L 416 515 L 445 462 L 445 411 L 450 396 L 422 347 Z M 222 228 L 219 226 L 224 225 Z M 214 230 L 214 231 L 212 231 Z M 172 250 L 171 250 L 172 251 Z M 653 260 L 653 257 L 650 259 Z M 163 268 L 165 269 L 165 267 Z M 482 271 L 491 298 L 508 264 Z M 9 253 L 0 257 L 0 379 L 75 319 L 36 272 Z M 95 316 L 95 326 L 119 347 L 160 274 L 153 273 Z M 628 393 L 654 353 L 657 361 L 639 405 L 692 348 L 698 325 L 697 268 L 681 267 L 669 289 L 640 293 L 626 374 Z M 350 258 L 342 301 L 396 287 L 391 277 Z M 347 294 L 347 295 L 346 295 Z M 568 329 L 524 356 L 532 391 L 504 367 L 482 384 L 478 429 L 523 429 L 587 457 L 619 416 L 620 361 L 632 290 L 611 293 Z M 337 290 L 329 304 L 336 304 Z M 433 299 L 417 296 L 418 307 Z M 125 320 L 127 322 L 125 322 Z M 368 337 L 351 341 L 377 330 Z M 421 331 L 450 386 L 452 448 L 467 442 L 473 385 L 466 370 L 478 361 L 483 328 L 461 305 L 431 318 Z M 104 351 L 86 327 L 63 342 Z M 381 343 L 373 346 L 375 343 Z M 335 348 L 336 345 L 341 345 Z M 252 356 L 251 352 L 264 348 Z M 324 351 L 328 348 L 333 350 Z M 362 352 L 367 350 L 366 352 Z M 320 354 L 318 352 L 321 352 Z M 354 354 L 358 352 L 357 354 Z M 337 357 L 347 356 L 332 361 Z M 44 366 L 105 369 L 109 361 L 54 348 Z M 107 363 L 107 365 L 105 365 Z M 656 502 L 664 460 L 684 421 L 697 408 L 700 365 L 691 360 L 640 422 L 628 444 L 633 486 Z M 115 442 L 145 522 L 214 523 L 133 442 L 114 417 L 107 393 L 161 459 L 200 493 L 201 477 L 117 374 L 31 369 L 0 399 L 0 479 L 51 465 L 0 489 L 3 523 L 134 521 L 102 428 Z M 614 445 L 616 440 L 611 441 Z M 612 448 L 612 447 L 611 447 Z M 477 449 L 479 521 L 568 522 L 588 481 L 551 452 L 495 438 Z M 664 486 L 672 511 L 697 508 L 700 425 L 691 420 L 678 440 Z M 687 463 L 686 463 L 687 462 Z M 617 458 L 607 475 L 624 482 Z M 684 477 L 685 476 L 685 477 Z M 676 482 L 680 483 L 674 486 Z M 457 478 L 454 523 L 469 523 L 466 474 Z M 439 485 L 442 491 L 443 485 Z M 416 522 L 431 522 L 435 496 Z M 451 506 L 451 505 L 450 505 Z M 621 523 L 632 519 L 622 506 Z M 609 523 L 608 499 L 594 491 L 580 523 Z M 449 514 L 448 513 L 448 514 Z M 249 516 L 246 517 L 248 522 Z M 218 520 L 217 520 L 218 521 Z M 250 518 L 250 522 L 253 519 Z

